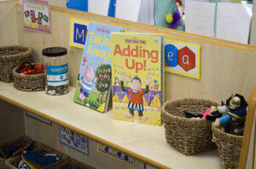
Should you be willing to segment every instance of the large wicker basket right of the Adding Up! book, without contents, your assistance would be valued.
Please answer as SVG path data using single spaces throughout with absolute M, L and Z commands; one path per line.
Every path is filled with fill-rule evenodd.
M 167 101 L 162 107 L 166 142 L 184 155 L 216 149 L 216 145 L 212 143 L 212 122 L 206 119 L 189 119 L 184 115 L 184 111 L 199 115 L 212 105 L 218 104 L 205 99 Z

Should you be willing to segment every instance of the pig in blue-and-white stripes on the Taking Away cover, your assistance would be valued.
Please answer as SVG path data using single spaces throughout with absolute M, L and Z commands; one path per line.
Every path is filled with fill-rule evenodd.
M 90 94 L 90 90 L 93 86 L 93 83 L 96 82 L 95 70 L 86 65 L 84 70 L 84 76 L 79 80 L 81 84 L 79 100 L 83 101 Z

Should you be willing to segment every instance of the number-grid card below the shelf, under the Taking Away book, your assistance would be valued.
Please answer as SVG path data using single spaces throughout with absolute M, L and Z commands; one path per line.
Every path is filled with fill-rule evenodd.
M 65 127 L 60 127 L 61 144 L 89 155 L 89 139 Z

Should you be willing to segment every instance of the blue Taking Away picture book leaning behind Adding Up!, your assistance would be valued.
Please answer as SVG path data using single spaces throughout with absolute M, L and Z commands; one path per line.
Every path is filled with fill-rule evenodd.
M 110 34 L 123 29 L 89 24 L 73 100 L 105 112 L 111 93 Z

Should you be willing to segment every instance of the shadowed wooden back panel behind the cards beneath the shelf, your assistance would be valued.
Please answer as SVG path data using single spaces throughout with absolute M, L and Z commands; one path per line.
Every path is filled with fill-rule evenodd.
M 70 149 L 60 143 L 59 126 L 54 123 L 52 126 L 49 126 L 41 121 L 26 116 L 25 126 L 26 135 L 28 137 L 38 140 L 43 144 L 47 144 L 78 161 L 82 161 L 90 166 L 95 166 L 97 169 L 143 169 L 144 167 L 142 161 L 135 160 L 135 166 L 130 166 L 124 162 L 96 152 L 97 143 L 91 139 L 89 140 L 89 156 L 81 154 L 74 149 Z

